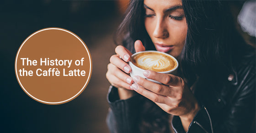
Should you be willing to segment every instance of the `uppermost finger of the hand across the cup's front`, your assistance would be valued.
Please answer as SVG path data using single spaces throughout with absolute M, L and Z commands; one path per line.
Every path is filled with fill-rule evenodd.
M 165 85 L 169 85 L 173 87 L 184 85 L 184 81 L 181 77 L 178 77 L 172 74 L 164 74 L 164 73 L 146 70 L 143 72 L 143 75 L 155 81 L 161 82 Z

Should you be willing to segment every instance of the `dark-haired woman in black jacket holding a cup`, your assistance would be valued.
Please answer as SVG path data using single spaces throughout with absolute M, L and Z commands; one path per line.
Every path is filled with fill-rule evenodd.
M 106 77 L 112 133 L 248 133 L 255 121 L 255 49 L 237 33 L 228 1 L 131 0 L 122 46 Z M 163 51 L 178 74 L 129 76 L 134 52 Z M 172 121 L 171 115 L 173 115 Z

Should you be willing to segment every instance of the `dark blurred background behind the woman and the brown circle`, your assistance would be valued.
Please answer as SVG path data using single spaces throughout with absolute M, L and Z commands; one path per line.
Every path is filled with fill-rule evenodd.
M 243 3 L 231 2 L 235 17 Z M 109 133 L 105 119 L 110 84 L 105 73 L 114 54 L 113 35 L 127 4 L 128 0 L 1 1 L 0 59 L 4 60 L 0 63 L 1 133 Z M 88 86 L 80 96 L 61 105 L 33 100 L 23 92 L 15 76 L 15 57 L 21 43 L 33 32 L 47 27 L 74 32 L 92 56 Z M 246 38 L 247 35 L 243 35 Z M 253 39 L 252 45 L 255 45 L 255 37 Z

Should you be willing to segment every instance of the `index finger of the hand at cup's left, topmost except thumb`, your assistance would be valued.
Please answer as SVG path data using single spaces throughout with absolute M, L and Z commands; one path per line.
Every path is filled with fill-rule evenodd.
M 130 57 L 132 55 L 132 53 L 128 49 L 121 45 L 116 47 L 115 52 L 126 62 L 130 60 Z

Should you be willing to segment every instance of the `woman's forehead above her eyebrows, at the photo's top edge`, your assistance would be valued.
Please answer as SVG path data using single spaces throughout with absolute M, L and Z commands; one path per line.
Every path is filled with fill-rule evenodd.
M 171 6 L 182 5 L 181 0 L 144 0 L 144 5 L 153 10 L 166 10 Z

